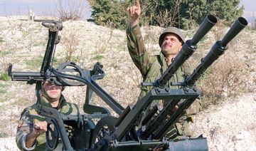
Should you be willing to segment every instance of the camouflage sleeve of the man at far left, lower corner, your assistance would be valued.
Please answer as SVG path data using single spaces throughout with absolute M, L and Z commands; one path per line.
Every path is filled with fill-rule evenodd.
M 17 133 L 16 133 L 16 144 L 20 150 L 34 150 L 36 143 L 27 148 L 26 147 L 26 135 L 33 131 L 33 119 L 28 111 L 26 111 L 21 119 L 18 121 Z

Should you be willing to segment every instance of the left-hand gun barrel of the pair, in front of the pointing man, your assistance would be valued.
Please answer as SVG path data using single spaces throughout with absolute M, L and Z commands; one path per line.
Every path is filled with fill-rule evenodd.
M 174 61 L 171 63 L 171 66 L 167 68 L 167 70 L 164 72 L 164 74 L 159 78 L 158 84 L 160 86 L 166 85 L 166 83 L 171 79 L 171 77 L 174 75 L 174 73 L 178 70 L 178 67 L 181 66 L 196 50 L 197 46 L 196 43 L 203 38 L 203 36 L 210 31 L 210 28 L 212 28 L 217 23 L 217 19 L 213 15 L 206 16 L 206 19 L 203 20 L 203 23 L 198 28 L 198 31 L 193 36 L 191 40 L 186 41 L 186 43 L 183 44 L 181 51 L 178 53 L 178 55 L 174 58 Z

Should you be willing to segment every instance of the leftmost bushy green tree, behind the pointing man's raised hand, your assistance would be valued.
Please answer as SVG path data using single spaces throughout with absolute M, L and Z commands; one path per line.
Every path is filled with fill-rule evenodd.
M 116 28 L 126 28 L 129 15 L 127 14 L 127 7 L 133 6 L 133 0 L 88 0 L 92 8 L 92 21 L 97 25 L 105 26 L 107 24 L 115 24 Z M 156 0 L 140 1 L 142 14 L 140 24 L 142 26 L 152 25 L 149 20 L 154 16 L 154 9 L 156 9 Z

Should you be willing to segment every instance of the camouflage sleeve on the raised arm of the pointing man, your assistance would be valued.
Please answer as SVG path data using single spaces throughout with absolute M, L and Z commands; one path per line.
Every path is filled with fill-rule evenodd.
M 149 68 L 149 53 L 146 51 L 139 25 L 127 28 L 127 47 L 135 66 L 145 77 Z

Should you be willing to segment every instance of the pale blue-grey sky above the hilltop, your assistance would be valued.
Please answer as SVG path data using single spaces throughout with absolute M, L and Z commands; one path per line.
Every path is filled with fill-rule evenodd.
M 0 16 L 26 15 L 28 9 L 33 9 L 36 15 L 48 16 L 56 14 L 56 5 L 54 1 L 58 0 L 0 0 Z M 244 15 L 248 22 L 253 22 L 256 16 L 255 0 L 240 0 L 240 6 L 244 5 Z M 255 13 L 254 13 L 255 12 Z M 87 11 L 83 19 L 90 18 L 90 11 Z

